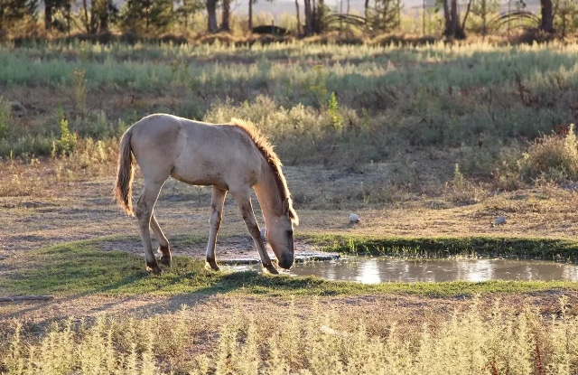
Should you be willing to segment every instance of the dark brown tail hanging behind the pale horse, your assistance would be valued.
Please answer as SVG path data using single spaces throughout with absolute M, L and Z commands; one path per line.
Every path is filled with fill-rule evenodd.
M 118 206 L 133 216 L 133 178 L 135 176 L 135 167 L 133 163 L 133 154 L 130 147 L 130 138 L 133 135 L 133 128 L 126 130 L 120 139 L 120 150 L 118 153 L 118 170 L 117 183 L 115 185 L 115 198 Z

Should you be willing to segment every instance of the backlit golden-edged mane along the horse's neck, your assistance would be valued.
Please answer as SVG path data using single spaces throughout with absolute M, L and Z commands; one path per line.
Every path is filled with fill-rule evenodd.
M 275 154 L 273 150 L 273 145 L 271 145 L 259 129 L 257 129 L 253 124 L 243 121 L 238 118 L 231 119 L 231 125 L 235 127 L 240 127 L 247 133 L 248 136 L 251 137 L 253 142 L 255 143 L 256 147 L 261 151 L 261 154 L 265 156 L 267 163 L 271 166 L 274 171 L 275 175 L 275 182 L 277 183 L 277 189 L 281 195 L 281 200 L 284 201 L 285 198 L 289 199 L 289 212 L 291 214 L 291 218 L 298 222 L 297 214 L 293 208 L 293 201 L 291 200 L 291 193 L 287 188 L 287 181 L 285 180 L 285 176 L 281 170 L 281 160 L 279 156 Z

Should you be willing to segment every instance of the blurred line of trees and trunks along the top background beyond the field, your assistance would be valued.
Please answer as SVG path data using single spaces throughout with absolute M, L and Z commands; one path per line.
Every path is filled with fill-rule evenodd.
M 366 0 L 360 11 L 351 10 L 350 0 L 342 0 L 339 9 L 324 0 L 295 0 L 294 14 L 277 16 L 277 20 L 255 14 L 255 4 L 251 0 L 247 12 L 234 14 L 230 0 L 126 0 L 122 4 L 113 0 L 0 0 L 0 41 L 71 33 L 190 36 L 218 32 L 293 36 L 339 32 L 370 37 L 401 32 L 464 39 L 471 33 L 509 33 L 514 28 L 549 39 L 578 30 L 578 2 L 574 0 L 540 0 L 539 14 L 529 12 L 523 0 L 505 5 L 499 0 L 465 4 L 437 0 L 413 12 L 406 12 L 401 0 Z

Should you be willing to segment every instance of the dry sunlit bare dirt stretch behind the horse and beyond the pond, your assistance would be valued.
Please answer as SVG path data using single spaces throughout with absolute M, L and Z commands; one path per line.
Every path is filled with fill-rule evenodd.
M 143 255 L 135 218 L 122 214 L 112 198 L 114 165 L 107 167 L 105 178 L 102 174 L 84 178 L 79 175 L 78 180 L 70 181 L 51 177 L 51 168 L 58 165 L 13 168 L 6 164 L 0 171 L 3 181 L 14 181 L 11 174 L 14 170 L 20 183 L 33 184 L 35 190 L 28 194 L 22 188 L 22 195 L 0 197 L 0 267 L 6 259 L 32 248 L 80 239 L 98 239 L 105 249 Z M 560 188 L 509 193 L 474 188 L 459 195 L 446 192 L 433 196 L 391 192 L 391 197 L 380 197 L 378 201 L 378 193 L 386 193 L 384 185 L 392 178 L 384 165 L 373 166 L 366 173 L 343 173 L 313 166 L 287 167 L 285 174 L 301 221 L 295 230 L 297 235 L 329 232 L 410 237 L 578 237 L 575 215 L 578 194 Z M 34 176 L 42 178 L 34 180 Z M 140 189 L 137 175 L 135 194 Z M 471 198 L 467 203 L 459 200 L 464 193 Z M 258 204 L 255 209 L 260 220 Z M 359 224 L 350 223 L 353 211 L 359 215 Z M 210 188 L 169 180 L 155 214 L 171 240 L 174 255 L 204 258 Z M 504 216 L 506 224 L 495 225 L 498 216 Z M 225 203 L 217 246 L 217 257 L 221 260 L 257 258 L 245 223 L 230 197 Z M 318 250 L 304 241 L 298 241 L 295 249 L 297 255 Z

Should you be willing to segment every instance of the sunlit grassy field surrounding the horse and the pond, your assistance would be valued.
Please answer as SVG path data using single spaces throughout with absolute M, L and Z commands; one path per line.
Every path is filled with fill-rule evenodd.
M 152 277 L 110 245 L 138 242 L 111 213 L 119 137 L 166 112 L 266 134 L 315 248 L 575 261 L 576 61 L 562 42 L 0 45 L 0 294 L 55 296 L 0 305 L 0 373 L 578 372 L 575 283 L 362 286 L 185 257 Z M 202 248 L 210 189 L 181 186 L 161 220 Z M 231 207 L 223 238 L 246 234 Z

